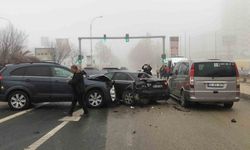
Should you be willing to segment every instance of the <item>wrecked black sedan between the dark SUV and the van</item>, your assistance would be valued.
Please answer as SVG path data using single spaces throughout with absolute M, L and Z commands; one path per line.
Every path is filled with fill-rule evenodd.
M 106 73 L 105 76 L 114 81 L 116 98 L 127 105 L 169 99 L 166 80 L 153 78 L 143 72 L 130 71 L 114 71 Z

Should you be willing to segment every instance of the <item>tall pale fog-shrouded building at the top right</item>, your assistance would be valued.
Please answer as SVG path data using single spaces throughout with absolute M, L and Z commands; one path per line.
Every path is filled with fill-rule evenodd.
M 231 58 L 250 56 L 250 0 L 227 0 L 222 17 L 222 41 Z

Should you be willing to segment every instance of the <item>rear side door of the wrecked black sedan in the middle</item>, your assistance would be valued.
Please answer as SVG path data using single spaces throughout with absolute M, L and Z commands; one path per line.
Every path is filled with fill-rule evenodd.
M 134 81 L 133 78 L 125 72 L 115 73 L 112 80 L 115 81 L 115 91 L 118 99 L 122 98 L 123 92 Z

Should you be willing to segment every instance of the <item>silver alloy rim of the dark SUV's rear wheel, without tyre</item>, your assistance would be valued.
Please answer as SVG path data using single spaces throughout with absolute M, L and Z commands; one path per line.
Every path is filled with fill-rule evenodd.
M 16 109 L 21 109 L 25 106 L 27 102 L 26 97 L 23 94 L 15 94 L 10 98 L 11 106 Z

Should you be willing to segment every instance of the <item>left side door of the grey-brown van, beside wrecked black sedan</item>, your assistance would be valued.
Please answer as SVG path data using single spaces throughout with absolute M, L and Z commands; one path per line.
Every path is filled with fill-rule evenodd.
M 173 69 L 173 75 L 169 79 L 169 90 L 170 93 L 176 95 L 176 86 L 177 86 L 177 77 L 178 77 L 178 70 L 179 70 L 180 63 L 177 63 Z

